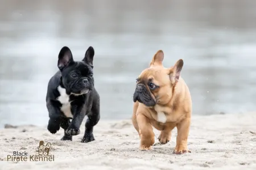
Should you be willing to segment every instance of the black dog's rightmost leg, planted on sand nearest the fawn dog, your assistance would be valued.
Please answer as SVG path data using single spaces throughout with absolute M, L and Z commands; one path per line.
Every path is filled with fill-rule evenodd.
M 92 106 L 92 110 L 88 114 L 88 119 L 86 120 L 86 123 L 85 123 L 85 133 L 81 142 L 87 143 L 95 140 L 93 136 L 93 126 L 97 125 L 99 120 L 100 120 L 100 104 L 97 103 Z

